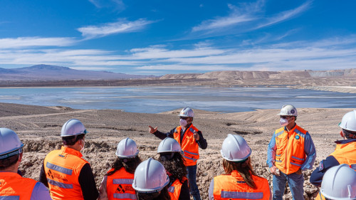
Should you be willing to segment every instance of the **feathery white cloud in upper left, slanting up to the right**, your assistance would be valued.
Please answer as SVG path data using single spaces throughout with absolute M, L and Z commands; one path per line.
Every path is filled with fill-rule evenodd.
M 155 21 L 147 21 L 145 19 L 138 19 L 136 21 L 127 21 L 126 19 L 120 19 L 114 23 L 105 23 L 101 26 L 85 26 L 78 28 L 78 31 L 82 33 L 82 36 L 90 38 L 100 38 L 117 33 L 131 33 L 144 29 L 148 24 Z

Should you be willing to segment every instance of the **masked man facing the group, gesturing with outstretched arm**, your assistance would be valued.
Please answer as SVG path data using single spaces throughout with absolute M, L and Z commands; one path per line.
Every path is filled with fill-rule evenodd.
M 182 147 L 183 159 L 187 167 L 187 177 L 189 181 L 190 194 L 194 200 L 200 200 L 200 193 L 197 186 L 197 160 L 199 159 L 199 147 L 206 149 L 208 144 L 201 131 L 192 124 L 194 112 L 189 107 L 184 107 L 179 112 L 179 127 L 175 127 L 170 132 L 162 133 L 157 131 L 157 127 L 150 127 L 150 133 L 163 140 L 166 137 L 172 137 Z

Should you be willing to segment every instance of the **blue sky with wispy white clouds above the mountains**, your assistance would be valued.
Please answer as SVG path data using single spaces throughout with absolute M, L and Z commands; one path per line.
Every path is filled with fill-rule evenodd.
M 0 68 L 356 68 L 356 1 L 1 0 Z

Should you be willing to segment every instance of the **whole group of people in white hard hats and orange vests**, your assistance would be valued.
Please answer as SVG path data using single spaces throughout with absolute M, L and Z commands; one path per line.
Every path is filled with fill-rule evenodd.
M 221 146 L 225 173 L 211 180 L 209 200 L 280 200 L 287 182 L 293 199 L 304 199 L 303 171 L 313 168 L 315 146 L 310 134 L 295 123 L 298 114 L 293 105 L 284 105 L 278 115 L 281 128 L 274 132 L 267 150 L 273 191 L 268 180 L 253 171 L 246 140 L 229 134 Z M 79 120 L 63 125 L 63 147 L 46 155 L 39 182 L 21 177 L 23 143 L 14 131 L 0 128 L 0 199 L 187 200 L 192 195 L 200 200 L 197 160 L 199 148 L 206 149 L 207 142 L 192 124 L 193 119 L 193 110 L 184 107 L 179 112 L 179 126 L 170 132 L 149 126 L 149 132 L 162 140 L 157 159 L 142 162 L 136 142 L 128 137 L 121 140 L 115 152 L 117 159 L 99 190 L 89 162 L 80 153 L 87 131 Z M 347 112 L 339 126 L 344 140 L 336 142 L 335 151 L 310 176 L 310 183 L 321 186 L 317 199 L 356 199 L 356 110 Z

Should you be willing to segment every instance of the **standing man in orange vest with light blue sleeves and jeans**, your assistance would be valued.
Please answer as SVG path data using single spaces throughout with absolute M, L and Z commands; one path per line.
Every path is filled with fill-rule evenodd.
M 293 200 L 303 200 L 302 170 L 313 168 L 315 146 L 309 133 L 295 123 L 297 110 L 293 105 L 283 105 L 278 115 L 282 127 L 274 132 L 267 149 L 267 164 L 273 174 L 273 200 L 283 199 L 287 181 Z

